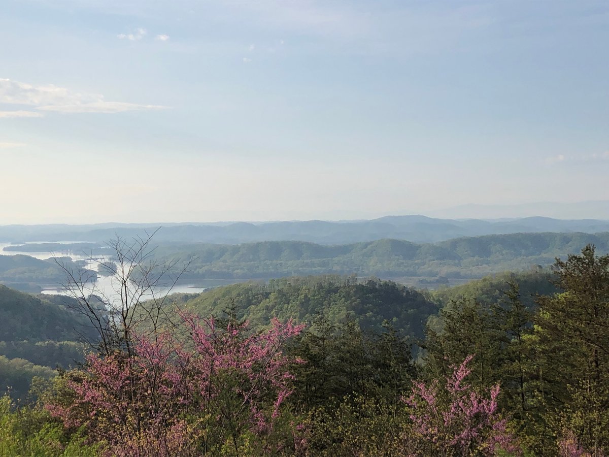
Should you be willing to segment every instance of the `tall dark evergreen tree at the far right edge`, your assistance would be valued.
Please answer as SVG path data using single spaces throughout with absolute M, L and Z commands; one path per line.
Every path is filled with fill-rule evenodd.
M 609 453 L 609 255 L 588 245 L 556 261 L 563 292 L 540 298 L 535 317 L 540 392 L 547 426 Z M 560 364 L 557 364 L 560 361 Z

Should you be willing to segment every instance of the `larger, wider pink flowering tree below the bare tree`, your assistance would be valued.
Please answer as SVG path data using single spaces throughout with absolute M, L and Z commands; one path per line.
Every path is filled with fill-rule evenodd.
M 66 374 L 51 414 L 105 443 L 108 455 L 280 451 L 277 443 L 289 440 L 273 434 L 297 428 L 281 408 L 294 363 L 283 347 L 303 326 L 274 319 L 253 333 L 247 323 L 220 328 L 214 319 L 181 317 L 188 344 L 169 333 L 134 335 L 132 355 L 90 355 L 83 370 Z

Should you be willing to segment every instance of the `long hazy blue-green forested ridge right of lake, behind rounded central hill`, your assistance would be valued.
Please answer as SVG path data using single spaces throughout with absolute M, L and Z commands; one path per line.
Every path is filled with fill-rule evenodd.
M 357 274 L 360 277 L 479 278 L 502 271 L 547 266 L 555 257 L 592 243 L 609 252 L 609 232 L 514 233 L 459 238 L 435 244 L 397 239 L 324 246 L 302 241 L 240 245 L 161 246 L 166 258 L 191 260 L 185 280 L 272 278 L 289 275 Z

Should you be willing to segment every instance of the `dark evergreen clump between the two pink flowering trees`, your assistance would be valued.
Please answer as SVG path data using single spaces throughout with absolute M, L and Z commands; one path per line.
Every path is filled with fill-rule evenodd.
M 328 406 L 351 395 L 398 401 L 416 369 L 409 341 L 385 327 L 383 333 L 372 333 L 354 321 L 333 325 L 325 317 L 317 319 L 290 350 L 306 362 L 293 368 L 294 407 Z

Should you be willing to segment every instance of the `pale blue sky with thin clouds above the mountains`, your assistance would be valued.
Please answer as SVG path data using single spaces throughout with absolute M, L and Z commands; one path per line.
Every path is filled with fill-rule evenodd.
M 607 43 L 606 0 L 2 0 L 0 224 L 609 200 Z

